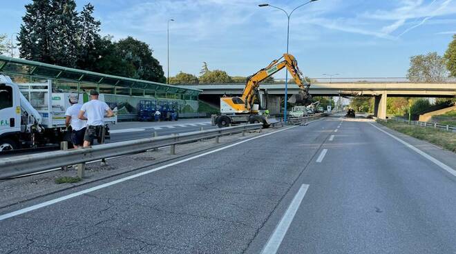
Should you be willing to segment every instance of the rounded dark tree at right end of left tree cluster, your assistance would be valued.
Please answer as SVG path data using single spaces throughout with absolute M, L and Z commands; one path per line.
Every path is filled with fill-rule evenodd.
M 133 78 L 155 82 L 166 82 L 160 62 L 152 56 L 153 50 L 147 43 L 127 37 L 116 43 L 117 53 L 135 66 Z

